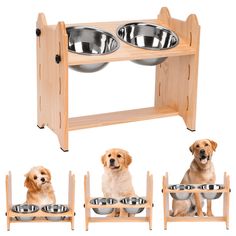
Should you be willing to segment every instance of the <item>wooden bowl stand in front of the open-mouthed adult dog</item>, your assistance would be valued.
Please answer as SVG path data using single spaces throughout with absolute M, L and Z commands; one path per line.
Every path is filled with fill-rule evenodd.
M 225 173 L 224 174 L 224 189 L 219 190 L 201 190 L 201 189 L 192 189 L 192 190 L 171 190 L 168 189 L 168 173 L 163 176 L 163 206 L 164 206 L 164 229 L 167 229 L 168 222 L 225 222 L 226 229 L 229 229 L 229 197 L 230 197 L 230 178 Z M 200 194 L 202 192 L 215 192 L 223 193 L 223 214 L 222 216 L 183 216 L 183 217 L 173 217 L 170 216 L 169 212 L 169 193 L 178 193 L 188 192 L 194 194 Z

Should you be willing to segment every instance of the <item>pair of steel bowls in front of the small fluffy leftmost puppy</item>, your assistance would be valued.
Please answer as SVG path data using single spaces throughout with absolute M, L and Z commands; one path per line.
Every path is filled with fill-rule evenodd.
M 39 210 L 45 213 L 51 213 L 53 215 L 52 217 L 45 217 L 47 220 L 59 221 L 59 220 L 64 220 L 65 217 L 57 217 L 56 214 L 68 212 L 69 208 L 66 205 L 61 205 L 61 204 L 50 204 L 50 205 L 45 205 L 41 208 L 33 204 L 18 204 L 12 207 L 13 212 L 25 215 L 35 213 Z M 31 221 L 34 220 L 35 217 L 20 216 L 16 217 L 16 219 L 21 221 Z

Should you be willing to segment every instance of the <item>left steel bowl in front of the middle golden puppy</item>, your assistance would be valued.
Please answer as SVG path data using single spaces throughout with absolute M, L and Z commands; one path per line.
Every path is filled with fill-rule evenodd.
M 94 198 L 90 201 L 90 204 L 96 206 L 105 206 L 105 205 L 112 205 L 112 204 L 116 204 L 117 200 L 114 198 Z M 111 214 L 114 210 L 114 208 L 93 208 L 94 212 L 100 215 L 107 215 L 107 214 Z

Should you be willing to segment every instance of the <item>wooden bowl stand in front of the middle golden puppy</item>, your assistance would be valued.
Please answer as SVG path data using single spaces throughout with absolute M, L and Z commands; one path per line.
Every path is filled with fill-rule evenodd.
M 127 205 L 122 203 L 116 203 L 112 205 L 93 205 L 90 204 L 90 200 L 94 197 L 90 196 L 90 175 L 89 172 L 84 176 L 84 194 L 85 194 L 85 229 L 88 231 L 89 223 L 95 222 L 148 222 L 149 229 L 152 229 L 152 207 L 153 207 L 153 176 L 147 173 L 147 189 L 146 189 L 146 201 L 147 203 L 142 205 Z M 130 217 L 91 217 L 92 208 L 145 208 L 146 216 L 130 216 Z M 138 214 L 136 214 L 138 215 Z

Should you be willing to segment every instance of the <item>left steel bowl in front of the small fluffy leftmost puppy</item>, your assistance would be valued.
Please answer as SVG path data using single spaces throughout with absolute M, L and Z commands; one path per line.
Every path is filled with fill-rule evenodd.
M 30 214 L 30 213 L 35 213 L 39 210 L 39 207 L 36 205 L 31 205 L 31 204 L 18 204 L 12 206 L 12 211 L 20 214 Z M 16 217 L 17 220 L 22 220 L 22 221 L 30 221 L 33 220 L 35 217 L 28 217 L 28 216 L 20 216 Z

